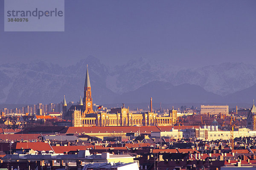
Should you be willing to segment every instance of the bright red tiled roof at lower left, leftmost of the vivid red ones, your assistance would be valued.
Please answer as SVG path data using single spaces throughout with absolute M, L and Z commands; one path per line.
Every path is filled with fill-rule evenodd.
M 33 150 L 52 150 L 49 143 L 45 142 L 17 142 L 16 143 L 16 149 L 33 149 Z

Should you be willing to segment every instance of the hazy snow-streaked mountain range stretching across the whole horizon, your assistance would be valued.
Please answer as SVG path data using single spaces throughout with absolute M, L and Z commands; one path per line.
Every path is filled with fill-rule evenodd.
M 180 68 L 145 58 L 106 66 L 96 57 L 63 67 L 50 62 L 0 65 L 0 103 L 77 102 L 89 68 L 93 102 L 251 102 L 256 66 L 222 63 Z M 256 98 L 256 97 L 255 97 Z

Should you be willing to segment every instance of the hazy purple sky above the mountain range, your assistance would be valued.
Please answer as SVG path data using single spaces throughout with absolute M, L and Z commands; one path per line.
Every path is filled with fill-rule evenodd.
M 171 65 L 256 63 L 256 0 L 66 0 L 65 32 L 4 32 L 0 64 L 107 64 L 145 57 Z

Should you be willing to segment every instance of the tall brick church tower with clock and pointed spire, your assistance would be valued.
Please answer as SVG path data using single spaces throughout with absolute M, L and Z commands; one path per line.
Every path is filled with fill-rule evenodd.
M 84 114 L 93 113 L 93 99 L 92 99 L 92 94 L 91 94 L 88 65 L 87 65 L 87 71 L 86 71 L 85 83 L 84 83 L 83 104 L 84 104 L 84 108 L 85 108 Z

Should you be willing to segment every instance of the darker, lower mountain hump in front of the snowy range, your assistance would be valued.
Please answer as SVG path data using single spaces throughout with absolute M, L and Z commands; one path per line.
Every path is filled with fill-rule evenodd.
M 149 101 L 150 97 L 153 97 L 154 102 L 163 103 L 222 101 L 221 96 L 207 92 L 198 85 L 182 84 L 174 86 L 169 82 L 154 81 L 141 86 L 135 91 L 118 96 L 115 102 L 140 103 L 141 101 Z

